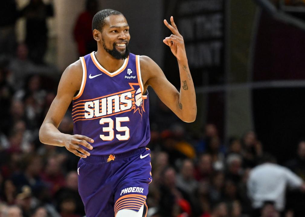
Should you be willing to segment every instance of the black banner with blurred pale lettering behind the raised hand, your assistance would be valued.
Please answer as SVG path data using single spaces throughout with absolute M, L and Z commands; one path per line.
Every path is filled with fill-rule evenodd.
M 223 84 L 224 0 L 180 0 L 174 12 L 195 85 Z M 172 69 L 173 61 L 166 54 L 166 69 Z

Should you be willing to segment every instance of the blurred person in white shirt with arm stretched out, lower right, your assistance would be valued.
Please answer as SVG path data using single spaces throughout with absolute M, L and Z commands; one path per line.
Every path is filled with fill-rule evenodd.
M 261 164 L 250 172 L 247 185 L 252 207 L 257 213 L 264 201 L 274 202 L 275 209 L 282 212 L 285 208 L 286 186 L 305 192 L 303 180 L 286 167 L 277 165 L 275 158 L 269 155 L 265 155 Z

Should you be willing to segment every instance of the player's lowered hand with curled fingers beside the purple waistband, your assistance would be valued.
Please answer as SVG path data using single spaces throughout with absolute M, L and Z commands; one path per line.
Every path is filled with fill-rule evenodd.
M 93 139 L 87 137 L 87 136 L 82 136 L 82 135 L 67 135 L 65 141 L 64 141 L 64 146 L 66 149 L 76 156 L 86 158 L 87 156 L 90 156 L 90 153 L 85 151 L 80 147 L 80 145 L 92 150 L 93 147 L 90 145 L 88 142 L 94 142 Z M 83 154 L 81 154 L 81 153 Z

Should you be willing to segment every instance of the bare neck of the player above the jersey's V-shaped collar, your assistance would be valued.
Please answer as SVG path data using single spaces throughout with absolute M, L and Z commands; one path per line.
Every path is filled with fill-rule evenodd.
M 95 52 L 94 55 L 99 64 L 111 73 L 121 68 L 125 61 L 124 59 L 118 60 L 114 58 L 104 49 L 98 49 L 98 51 Z

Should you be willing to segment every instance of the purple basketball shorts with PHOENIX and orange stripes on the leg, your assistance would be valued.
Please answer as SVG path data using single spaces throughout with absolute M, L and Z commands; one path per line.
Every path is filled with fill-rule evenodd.
M 77 165 L 78 191 L 87 217 L 114 217 L 121 209 L 139 211 L 152 181 L 150 150 L 141 147 L 109 156 L 88 156 Z

